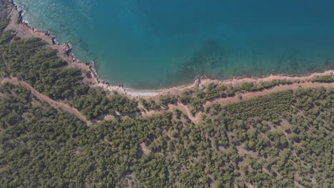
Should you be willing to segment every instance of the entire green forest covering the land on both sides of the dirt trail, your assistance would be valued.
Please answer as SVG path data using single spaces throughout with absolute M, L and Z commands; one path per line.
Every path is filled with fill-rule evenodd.
M 0 20 L 1 21 L 1 20 Z M 130 99 L 83 83 L 83 73 L 0 22 L 0 76 L 16 77 L 77 108 L 87 126 L 20 85 L 0 85 L 0 187 L 333 187 L 334 88 L 299 88 L 221 106 L 203 103 L 292 84 L 210 83 L 158 100 Z M 333 76 L 313 82 L 332 83 Z M 146 110 L 183 103 L 151 117 Z M 125 117 L 128 115 L 128 117 Z

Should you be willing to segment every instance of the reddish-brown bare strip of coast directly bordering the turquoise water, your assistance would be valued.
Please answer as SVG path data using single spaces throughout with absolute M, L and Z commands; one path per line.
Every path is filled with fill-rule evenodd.
M 0 0 L 0 2 L 1 1 L 5 0 Z M 306 76 L 269 75 L 265 78 L 233 78 L 231 80 L 214 80 L 211 78 L 202 78 L 194 80 L 194 82 L 189 85 L 168 88 L 165 90 L 151 90 L 151 91 L 148 90 L 143 92 L 141 91 L 131 92 L 131 90 L 119 87 L 118 85 L 109 85 L 108 83 L 103 82 L 103 80 L 100 80 L 98 78 L 98 75 L 96 75 L 95 70 L 93 69 L 93 66 L 91 64 L 82 63 L 81 61 L 76 60 L 72 54 L 69 55 L 66 54 L 67 44 L 55 45 L 53 44 L 53 39 L 51 38 L 51 36 L 49 36 L 45 32 L 36 31 L 34 28 L 27 26 L 26 23 L 20 23 L 19 22 L 20 13 L 19 11 L 16 10 L 16 8 L 14 8 L 11 11 L 10 16 L 11 16 L 11 23 L 9 24 L 9 26 L 7 26 L 6 30 L 14 31 L 16 35 L 21 38 L 31 38 L 31 37 L 42 38 L 44 41 L 46 41 L 47 47 L 59 51 L 58 55 L 69 63 L 70 68 L 80 68 L 86 71 L 86 74 L 83 75 L 84 77 L 83 82 L 88 83 L 92 87 L 101 87 L 104 90 L 117 91 L 118 93 L 128 93 L 129 97 L 146 96 L 145 98 L 157 98 L 159 95 L 180 95 L 183 90 L 193 89 L 197 86 L 203 87 L 211 82 L 217 83 L 219 85 L 239 85 L 241 83 L 246 83 L 246 82 L 259 83 L 259 82 L 270 82 L 272 80 L 291 80 L 295 82 L 298 80 L 300 81 L 310 80 L 319 75 L 334 74 L 334 71 L 330 70 L 330 71 L 325 71 L 324 73 L 312 73 Z M 156 97 L 152 97 L 152 95 L 156 95 Z

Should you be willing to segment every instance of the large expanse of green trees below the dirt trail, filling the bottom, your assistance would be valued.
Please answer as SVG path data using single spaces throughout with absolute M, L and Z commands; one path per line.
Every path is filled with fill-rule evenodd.
M 334 90 L 286 91 L 225 108 L 87 127 L 28 90 L 0 87 L 5 187 L 330 187 Z

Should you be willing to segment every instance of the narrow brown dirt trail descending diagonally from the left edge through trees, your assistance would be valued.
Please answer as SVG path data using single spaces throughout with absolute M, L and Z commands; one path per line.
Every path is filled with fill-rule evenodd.
M 29 83 L 26 83 L 24 81 L 18 80 L 17 78 L 13 78 L 13 77 L 0 79 L 0 84 L 3 84 L 3 83 L 11 83 L 11 84 L 14 84 L 14 85 L 21 85 L 24 88 L 26 88 L 27 90 L 29 90 L 33 95 L 35 95 L 36 98 L 39 98 L 39 100 L 43 100 L 44 102 L 49 103 L 49 105 L 51 105 L 54 108 L 61 108 L 62 110 L 65 110 L 66 112 L 75 115 L 76 117 L 78 117 L 83 122 L 86 122 L 87 125 L 92 125 L 92 122 L 88 121 L 86 119 L 86 117 L 79 112 L 78 109 L 71 107 L 71 105 L 69 105 L 69 104 L 53 100 L 53 99 L 49 98 L 48 96 L 46 96 L 42 93 L 39 93 L 31 85 L 29 85 Z

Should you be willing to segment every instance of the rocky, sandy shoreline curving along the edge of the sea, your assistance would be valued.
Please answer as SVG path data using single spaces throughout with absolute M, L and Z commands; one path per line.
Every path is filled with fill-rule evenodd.
M 132 98 L 138 98 L 138 97 L 156 97 L 158 95 L 164 95 L 164 94 L 176 94 L 181 93 L 185 89 L 194 88 L 196 86 L 200 85 L 206 85 L 206 83 L 218 83 L 223 85 L 238 85 L 240 83 L 246 83 L 246 82 L 253 82 L 253 83 L 259 83 L 259 82 L 268 82 L 270 80 L 310 80 L 312 78 L 315 78 L 319 75 L 333 75 L 334 71 L 333 68 L 330 68 L 329 70 L 325 70 L 320 73 L 308 73 L 307 75 L 263 75 L 260 77 L 250 77 L 250 76 L 243 76 L 243 77 L 235 77 L 228 80 L 219 80 L 214 78 L 208 78 L 206 76 L 196 77 L 193 79 L 193 83 L 189 83 L 186 85 L 180 85 L 176 87 L 170 87 L 170 88 L 164 88 L 164 89 L 157 89 L 157 90 L 140 90 L 140 89 L 133 89 L 133 88 L 126 88 L 123 86 L 123 84 L 118 85 L 111 85 L 106 80 L 102 80 L 95 68 L 95 64 L 92 62 L 85 63 L 82 61 L 79 61 L 75 58 L 74 53 L 71 52 L 72 46 L 71 43 L 66 42 L 64 44 L 59 44 L 56 41 L 55 36 L 52 36 L 49 31 L 39 31 L 36 28 L 32 28 L 29 26 L 29 23 L 26 23 L 24 21 L 24 12 L 20 10 L 19 6 L 16 4 L 15 1 L 11 1 L 11 4 L 13 5 L 13 10 L 10 14 L 11 22 L 6 27 L 7 31 L 15 31 L 16 35 L 21 38 L 31 38 L 31 37 L 37 37 L 41 38 L 43 41 L 46 42 L 46 46 L 49 48 L 56 49 L 58 51 L 58 56 L 63 58 L 65 61 L 68 62 L 69 68 L 80 68 L 81 70 L 86 71 L 86 74 L 83 75 L 83 82 L 87 83 L 88 85 L 91 85 L 92 87 L 101 87 L 104 90 L 108 90 L 111 92 L 118 92 L 128 95 Z

